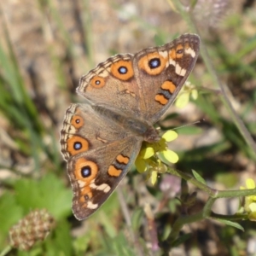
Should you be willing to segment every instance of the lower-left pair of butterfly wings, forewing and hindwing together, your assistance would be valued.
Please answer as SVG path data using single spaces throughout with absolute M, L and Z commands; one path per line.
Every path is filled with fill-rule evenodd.
M 88 104 L 72 104 L 61 130 L 61 152 L 78 219 L 95 212 L 137 158 L 143 139 L 105 119 Z

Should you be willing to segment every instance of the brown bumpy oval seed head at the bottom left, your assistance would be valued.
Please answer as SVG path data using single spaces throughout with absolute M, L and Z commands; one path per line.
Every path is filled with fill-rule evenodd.
M 34 210 L 9 230 L 10 245 L 29 250 L 36 241 L 43 241 L 54 227 L 54 218 L 45 209 Z

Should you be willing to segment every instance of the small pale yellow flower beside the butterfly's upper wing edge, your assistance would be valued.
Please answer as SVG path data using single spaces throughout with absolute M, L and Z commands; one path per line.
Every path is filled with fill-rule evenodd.
M 177 95 L 175 106 L 177 108 L 183 108 L 189 103 L 189 98 L 196 100 L 198 97 L 198 91 L 195 89 L 195 85 L 190 82 L 186 82 L 182 90 Z

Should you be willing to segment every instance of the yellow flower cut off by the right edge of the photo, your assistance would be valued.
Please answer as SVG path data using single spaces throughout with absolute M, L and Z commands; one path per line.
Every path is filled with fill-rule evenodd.
M 240 189 L 255 189 L 255 183 L 252 178 L 247 178 L 247 188 L 241 187 Z M 256 195 L 248 195 L 245 197 L 244 210 L 248 213 L 248 218 L 256 221 Z

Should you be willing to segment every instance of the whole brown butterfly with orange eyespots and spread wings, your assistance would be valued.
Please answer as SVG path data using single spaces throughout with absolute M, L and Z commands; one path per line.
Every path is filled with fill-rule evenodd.
M 87 218 L 108 199 L 143 141 L 160 140 L 154 124 L 172 105 L 195 65 L 200 39 L 184 34 L 136 55 L 114 55 L 80 79 L 87 103 L 72 104 L 61 152 L 73 185 L 73 213 Z

